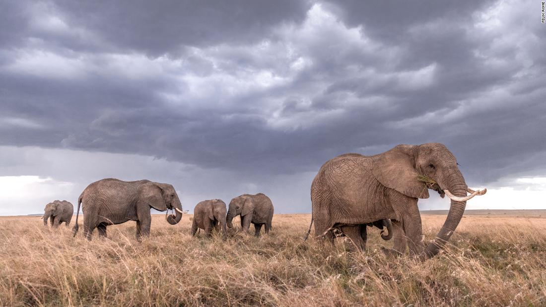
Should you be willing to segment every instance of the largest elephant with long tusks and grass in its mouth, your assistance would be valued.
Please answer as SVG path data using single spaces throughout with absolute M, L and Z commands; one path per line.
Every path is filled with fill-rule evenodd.
M 451 206 L 440 232 L 425 246 L 417 201 L 429 197 L 428 189 L 447 195 Z M 311 225 L 314 221 L 318 237 L 333 242 L 337 229 L 364 249 L 366 228 L 359 225 L 391 219 L 393 249 L 403 253 L 409 244 L 410 253 L 424 259 L 452 236 L 466 201 L 485 192 L 468 189 L 455 157 L 440 143 L 398 145 L 372 156 L 344 154 L 327 161 L 313 180 Z

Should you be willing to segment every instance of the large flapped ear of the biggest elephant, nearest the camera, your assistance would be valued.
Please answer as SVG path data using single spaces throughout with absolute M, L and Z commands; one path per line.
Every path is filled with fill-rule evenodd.
M 388 152 L 373 156 L 373 177 L 387 188 L 404 195 L 429 198 L 428 188 L 417 180 L 417 151 L 418 147 L 414 145 L 398 145 Z

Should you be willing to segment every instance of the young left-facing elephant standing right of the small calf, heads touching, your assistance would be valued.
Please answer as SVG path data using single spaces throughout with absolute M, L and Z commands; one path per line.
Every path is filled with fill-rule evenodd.
M 269 233 L 271 230 L 273 212 L 273 203 L 271 203 L 271 200 L 265 194 L 243 194 L 233 198 L 229 202 L 227 215 L 228 227 L 232 228 L 233 218 L 241 215 L 242 231 L 248 233 L 248 228 L 250 228 L 250 223 L 252 223 L 254 224 L 254 235 L 259 237 L 262 226 L 265 225 L 265 233 Z

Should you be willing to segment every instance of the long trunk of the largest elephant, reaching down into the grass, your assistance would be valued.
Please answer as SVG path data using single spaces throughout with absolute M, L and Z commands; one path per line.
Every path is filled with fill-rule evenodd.
M 442 188 L 451 191 L 453 195 L 458 197 L 465 197 L 468 187 L 466 186 L 465 179 L 462 177 L 461 172 L 456 169 L 451 176 L 446 180 L 447 184 L 441 183 Z M 446 221 L 444 222 L 442 228 L 436 235 L 436 238 L 426 246 L 423 253 L 420 255 L 422 260 L 426 258 L 434 257 L 443 245 L 449 240 L 452 236 L 455 228 L 459 225 L 461 221 L 462 214 L 465 212 L 466 201 L 456 201 L 451 200 L 449 213 L 447 215 Z

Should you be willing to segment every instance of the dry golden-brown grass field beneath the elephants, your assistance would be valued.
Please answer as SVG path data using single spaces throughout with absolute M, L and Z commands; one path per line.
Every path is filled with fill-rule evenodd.
M 189 236 L 192 215 L 175 226 L 153 215 L 141 243 L 134 222 L 88 242 L 81 227 L 71 236 L 75 219 L 51 231 L 39 217 L 4 216 L 0 305 L 545 306 L 544 216 L 467 215 L 425 262 L 384 256 L 392 243 L 371 228 L 365 252 L 344 238 L 303 242 L 309 214 L 275 215 L 269 236 L 225 241 Z M 445 218 L 423 214 L 426 239 Z

